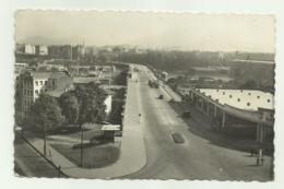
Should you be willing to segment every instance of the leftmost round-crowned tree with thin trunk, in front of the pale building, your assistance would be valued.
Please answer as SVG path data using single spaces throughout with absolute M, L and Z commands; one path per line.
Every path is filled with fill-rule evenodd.
M 48 131 L 61 126 L 64 117 L 57 99 L 47 94 L 40 94 L 34 105 L 32 105 L 25 123 L 39 129 L 44 133 L 44 154 L 46 155 L 46 134 Z

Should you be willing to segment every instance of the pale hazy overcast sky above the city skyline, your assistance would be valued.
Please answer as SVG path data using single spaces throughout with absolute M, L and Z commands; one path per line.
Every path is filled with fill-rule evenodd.
M 19 43 L 274 52 L 272 15 L 19 11 Z

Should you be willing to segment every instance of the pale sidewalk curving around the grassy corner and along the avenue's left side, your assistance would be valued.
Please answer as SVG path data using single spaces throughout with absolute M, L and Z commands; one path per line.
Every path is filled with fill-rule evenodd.
M 52 154 L 51 161 L 55 165 L 61 166 L 61 170 L 73 178 L 115 178 L 140 170 L 146 164 L 146 154 L 142 131 L 143 122 L 140 122 L 138 116 L 141 107 L 137 87 L 138 83 L 128 81 L 123 137 L 120 146 L 120 157 L 115 164 L 102 168 L 81 168 L 61 155 L 47 142 L 47 154 L 50 151 Z M 44 154 L 43 139 L 27 137 L 27 140 Z

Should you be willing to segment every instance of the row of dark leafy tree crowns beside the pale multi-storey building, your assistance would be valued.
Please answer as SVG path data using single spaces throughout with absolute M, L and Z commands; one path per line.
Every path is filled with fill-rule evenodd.
M 95 83 L 79 85 L 59 98 L 40 94 L 24 119 L 24 127 L 48 131 L 71 123 L 100 122 L 106 118 L 106 93 Z

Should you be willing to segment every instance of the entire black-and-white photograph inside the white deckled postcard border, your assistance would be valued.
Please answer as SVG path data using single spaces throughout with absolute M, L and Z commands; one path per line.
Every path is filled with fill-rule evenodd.
M 14 17 L 17 177 L 274 179 L 273 15 Z

